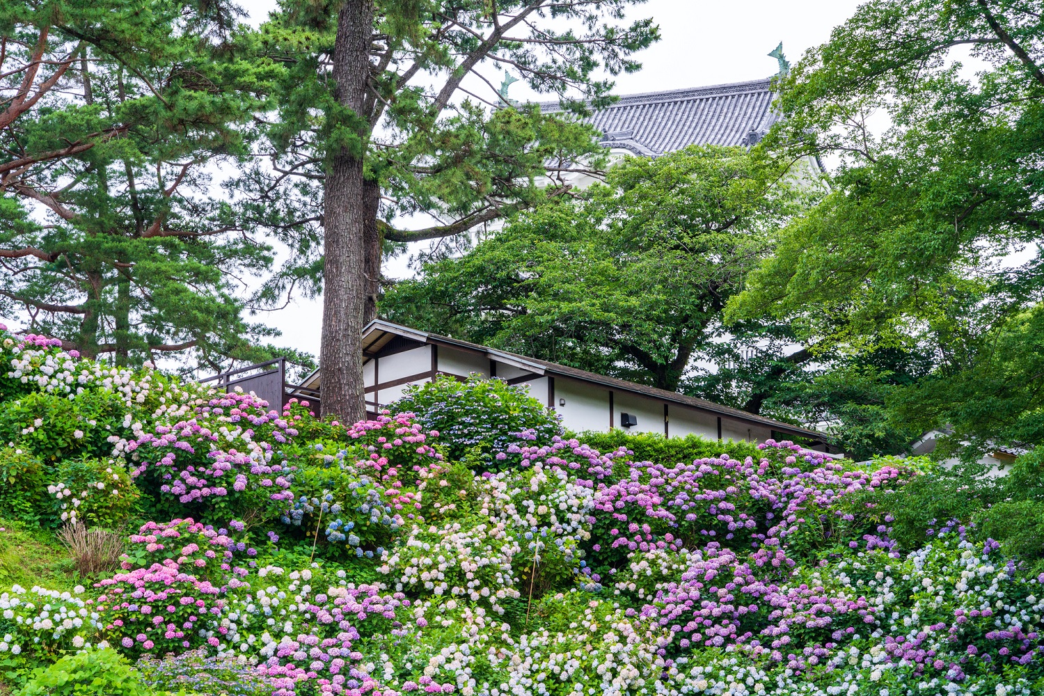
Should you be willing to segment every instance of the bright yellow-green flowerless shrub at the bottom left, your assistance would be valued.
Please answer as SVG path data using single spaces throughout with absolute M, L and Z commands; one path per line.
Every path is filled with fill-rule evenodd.
M 32 671 L 18 696 L 151 696 L 126 657 L 115 650 L 84 650 Z

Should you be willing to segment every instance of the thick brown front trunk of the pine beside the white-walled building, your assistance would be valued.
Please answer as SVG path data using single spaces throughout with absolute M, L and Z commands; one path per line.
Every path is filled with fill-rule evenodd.
M 371 0 L 347 0 L 337 17 L 333 79 L 338 102 L 362 114 L 370 76 Z M 360 141 L 364 135 L 360 129 Z M 323 282 L 323 414 L 355 422 L 365 417 L 362 383 L 362 328 L 366 303 L 367 220 L 362 159 L 365 143 L 331 158 L 324 190 L 325 262 Z

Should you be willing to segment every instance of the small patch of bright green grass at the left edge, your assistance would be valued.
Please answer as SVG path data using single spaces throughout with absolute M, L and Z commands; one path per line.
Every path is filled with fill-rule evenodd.
M 50 531 L 3 518 L 0 527 L 0 586 L 72 590 L 81 582 L 69 550 Z

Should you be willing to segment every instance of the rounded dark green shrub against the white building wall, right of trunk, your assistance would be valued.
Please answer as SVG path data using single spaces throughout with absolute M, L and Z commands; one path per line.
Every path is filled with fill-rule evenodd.
M 476 463 L 503 469 L 515 457 L 495 458 L 508 445 L 519 441 L 517 433 L 528 431 L 530 445 L 549 445 L 561 434 L 559 416 L 548 411 L 521 386 L 503 380 L 472 376 L 465 382 L 443 375 L 433 382 L 413 385 L 402 399 L 388 407 L 392 413 L 410 411 L 425 430 L 437 430 L 452 459 L 469 453 Z

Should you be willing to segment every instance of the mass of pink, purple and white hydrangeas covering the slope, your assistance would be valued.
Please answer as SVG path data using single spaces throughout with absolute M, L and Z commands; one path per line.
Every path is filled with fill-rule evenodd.
M 474 414 L 324 422 L 0 342 L 25 493 L 0 514 L 137 529 L 111 577 L 0 589 L 16 682 L 110 650 L 197 694 L 1044 693 L 1044 574 L 970 521 L 897 541 L 923 465 L 774 440 L 648 461 L 546 414 L 505 430 L 478 382 L 431 388 Z

